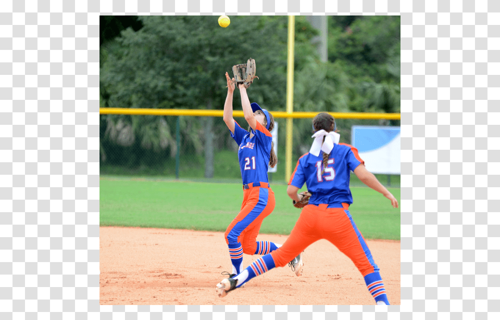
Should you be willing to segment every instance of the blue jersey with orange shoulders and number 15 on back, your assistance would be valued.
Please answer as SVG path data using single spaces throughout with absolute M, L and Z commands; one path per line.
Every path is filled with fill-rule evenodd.
M 333 204 L 351 204 L 350 171 L 361 163 L 364 164 L 364 161 L 356 148 L 344 143 L 335 144 L 323 174 L 323 152 L 319 152 L 317 157 L 306 153 L 298 159 L 288 184 L 300 189 L 305 183 L 312 193 L 309 198 L 312 205 L 328 204 L 331 208 L 335 207 Z

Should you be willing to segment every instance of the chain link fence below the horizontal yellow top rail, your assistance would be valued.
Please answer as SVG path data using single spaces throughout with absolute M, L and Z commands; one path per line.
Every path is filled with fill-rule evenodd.
M 236 122 L 247 128 L 244 118 Z M 285 181 L 286 119 L 278 123 L 274 183 Z M 311 118 L 293 119 L 292 169 L 312 143 Z M 340 142 L 352 144 L 353 125 L 399 126 L 400 120 L 336 119 Z M 238 146 L 221 117 L 162 115 L 100 115 L 100 174 L 166 179 L 210 179 L 240 182 Z M 376 175 L 379 181 L 399 187 L 399 175 Z M 352 183 L 357 179 L 353 176 Z

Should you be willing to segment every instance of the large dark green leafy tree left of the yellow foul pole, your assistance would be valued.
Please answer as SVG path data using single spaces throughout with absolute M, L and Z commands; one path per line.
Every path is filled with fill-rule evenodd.
M 260 76 L 252 84 L 251 98 L 263 105 L 284 106 L 285 17 L 231 18 L 230 26 L 221 28 L 216 16 L 139 17 L 142 28 L 123 30 L 105 53 L 101 67 L 103 105 L 222 109 L 225 71 L 231 72 L 233 64 L 252 57 Z M 237 97 L 234 108 L 238 109 Z M 104 132 L 104 138 L 122 146 L 139 143 L 144 149 L 173 150 L 172 118 L 107 116 L 107 126 L 135 138 L 119 139 L 122 135 L 111 134 L 111 129 Z M 205 149 L 211 148 L 213 119 L 183 122 L 181 126 L 183 145 L 191 145 L 199 152 L 199 141 L 204 141 L 208 144 Z M 210 164 L 206 166 L 209 169 Z

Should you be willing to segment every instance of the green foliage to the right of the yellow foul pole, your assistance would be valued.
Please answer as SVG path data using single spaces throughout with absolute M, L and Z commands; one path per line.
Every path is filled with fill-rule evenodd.
M 299 57 L 295 59 L 294 110 L 399 112 L 399 24 L 399 16 L 330 16 L 326 63 L 319 61 L 308 39 L 298 44 L 300 49 L 295 46 Z M 354 124 L 398 124 L 356 119 L 337 119 L 337 123 L 341 142 L 347 143 Z M 293 153 L 298 157 L 310 147 L 310 119 L 295 119 L 293 125 Z

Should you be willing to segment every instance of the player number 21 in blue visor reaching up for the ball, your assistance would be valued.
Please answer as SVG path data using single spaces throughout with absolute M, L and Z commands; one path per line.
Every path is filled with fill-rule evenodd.
M 241 128 L 232 117 L 234 79 L 231 80 L 227 72 L 225 76 L 227 97 L 223 120 L 231 132 L 231 137 L 239 146 L 238 160 L 243 182 L 241 209 L 224 233 L 232 264 L 232 273 L 224 274 L 231 278 L 242 271 L 243 254 L 266 255 L 281 245 L 270 241 L 255 241 L 262 220 L 272 212 L 275 205 L 274 192 L 269 187 L 267 179 L 268 166 L 274 167 L 277 162 L 269 132 L 274 127 L 274 118 L 258 104 L 250 104 L 246 88 L 241 84 L 239 86 L 241 106 L 245 120 L 250 126 L 250 132 Z M 301 265 L 301 255 L 289 263 L 292 270 L 298 270 Z

